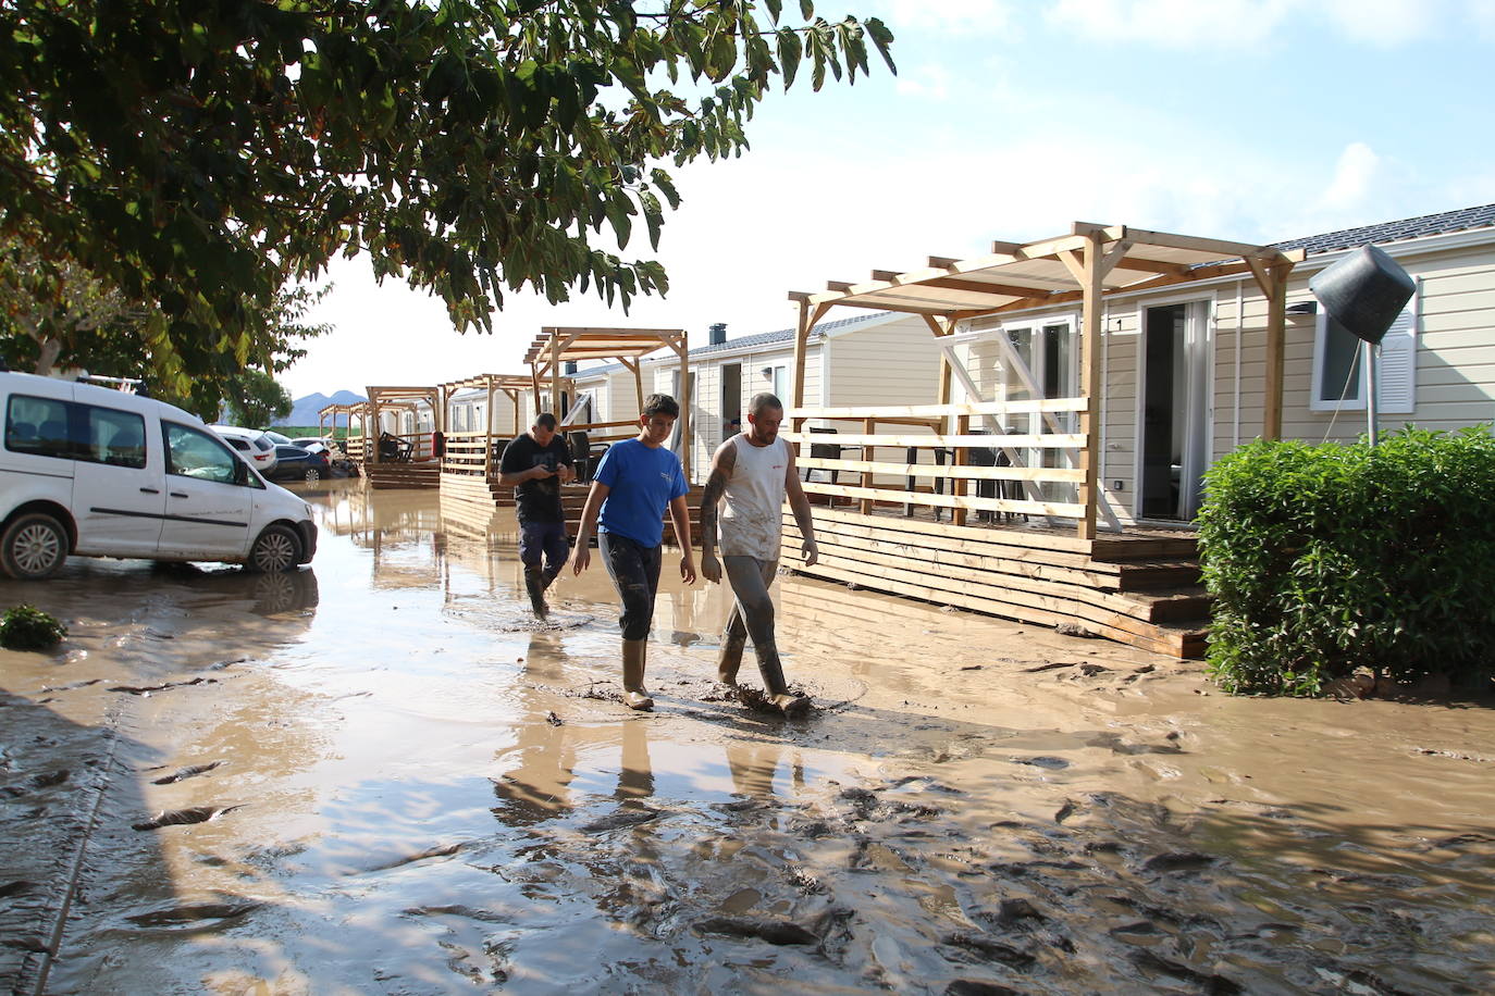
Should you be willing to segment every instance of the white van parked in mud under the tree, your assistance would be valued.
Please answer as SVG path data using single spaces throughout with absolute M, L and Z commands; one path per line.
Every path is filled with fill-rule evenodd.
M 179 408 L 4 372 L 0 414 L 0 570 L 12 578 L 46 578 L 69 554 L 292 570 L 317 551 L 311 506 Z

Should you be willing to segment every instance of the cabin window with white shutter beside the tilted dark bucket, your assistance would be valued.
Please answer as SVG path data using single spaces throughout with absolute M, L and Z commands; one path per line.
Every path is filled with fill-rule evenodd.
M 1416 297 L 1407 302 L 1381 339 L 1375 361 L 1377 408 L 1381 412 L 1411 412 L 1417 406 L 1416 303 Z M 1369 390 L 1360 360 L 1363 355 L 1363 343 L 1320 311 L 1314 329 L 1308 406 L 1316 412 L 1363 411 Z

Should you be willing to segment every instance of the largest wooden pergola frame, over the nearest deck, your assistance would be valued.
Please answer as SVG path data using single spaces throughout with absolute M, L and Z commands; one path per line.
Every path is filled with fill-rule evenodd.
M 801 412 L 806 411 L 804 355 L 810 332 L 839 305 L 919 315 L 936 336 L 949 336 L 972 318 L 1079 302 L 1082 403 L 1076 403 L 1075 411 L 1078 436 L 1084 442 L 1084 473 L 1076 479 L 1082 506 L 1078 535 L 1094 539 L 1103 297 L 1250 273 L 1268 300 L 1263 436 L 1278 439 L 1287 276 L 1302 258 L 1301 249 L 1283 252 L 1263 245 L 1076 221 L 1069 234 L 1027 243 L 994 242 L 988 255 L 973 260 L 930 257 L 925 269 L 873 270 L 872 279 L 861 284 L 828 281 L 824 293 L 792 291 L 789 299 L 800 311 L 794 340 L 792 429 L 798 433 L 807 418 Z M 970 412 L 955 412 L 960 406 L 951 405 L 952 379 L 946 352 L 940 363 L 940 406 L 948 408 L 952 418 L 969 418 Z M 951 439 L 967 441 L 966 436 Z

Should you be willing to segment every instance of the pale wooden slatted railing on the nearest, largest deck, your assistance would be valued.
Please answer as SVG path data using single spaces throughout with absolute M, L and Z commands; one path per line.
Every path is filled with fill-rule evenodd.
M 1000 432 L 1000 429 L 1011 421 L 1006 418 L 1009 415 L 1023 415 L 1027 421 L 1026 417 L 1033 414 L 1044 417 L 1045 429 L 1060 427 L 1057 415 L 1082 412 L 1085 408 L 1087 402 L 1082 397 L 955 405 L 800 408 L 792 412 L 795 426 L 803 426 L 807 420 L 836 423 L 837 432 L 786 432 L 782 436 L 789 442 L 800 443 L 803 455 L 797 458 L 797 463 L 801 470 L 833 472 L 831 481 L 806 481 L 804 490 L 807 493 L 824 494 L 831 500 L 857 500 L 864 514 L 872 512 L 873 505 L 881 502 L 951 509 L 957 524 L 964 524 L 969 512 L 1081 520 L 1085 517 L 1085 506 L 1079 499 L 1079 485 L 1085 481 L 1082 461 L 1082 452 L 1088 445 L 1085 435 L 1076 432 L 1017 433 Z M 972 432 L 973 420 L 981 420 L 996 429 L 985 433 Z M 893 430 L 881 429 L 885 426 Z M 922 429 L 922 432 L 910 432 L 910 427 Z M 858 429 L 860 432 L 857 432 Z M 860 458 L 848 458 L 845 454 L 815 457 L 810 446 L 816 445 L 854 449 Z M 901 460 L 890 460 L 888 449 L 900 451 Z M 912 461 L 907 458 L 909 449 L 915 451 Z M 1045 454 L 1066 454 L 1069 466 L 1027 466 L 1030 463 L 1027 451 L 1032 449 Z M 943 464 L 934 463 L 936 451 L 943 451 Z M 987 463 L 997 460 L 990 452 L 982 454 L 987 460 L 973 463 L 973 451 L 996 451 L 1005 457 L 1006 466 Z M 842 473 L 849 473 L 857 484 L 836 484 L 834 481 Z M 884 479 L 878 481 L 879 476 Z M 890 476 L 898 479 L 888 482 Z M 927 479 L 930 485 L 921 488 L 919 479 Z M 946 493 L 934 491 L 934 481 L 948 482 L 948 487 L 943 488 Z M 1003 488 L 1000 484 L 990 487 L 987 482 L 1012 482 L 1018 487 Z M 1052 491 L 1069 493 L 1070 500 L 1055 500 L 1051 494 L 1045 496 L 1042 487 L 1045 484 L 1061 485 L 1046 490 L 1051 494 Z M 988 488 L 994 494 L 981 494 Z M 1017 490 L 1021 497 L 1011 493 L 1003 494 L 1003 491 L 1012 490 Z

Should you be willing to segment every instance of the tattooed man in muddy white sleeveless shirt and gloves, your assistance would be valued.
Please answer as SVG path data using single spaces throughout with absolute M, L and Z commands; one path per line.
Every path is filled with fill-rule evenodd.
M 721 582 L 722 567 L 733 585 L 736 603 L 722 635 L 722 654 L 716 676 L 737 684 L 743 647 L 752 636 L 758 670 L 773 702 L 785 715 L 809 711 L 810 700 L 789 691 L 773 632 L 773 597 L 768 585 L 779 570 L 779 539 L 783 499 L 789 497 L 794 521 L 804 536 L 804 566 L 819 557 L 810 502 L 804 497 L 794 470 L 794 448 L 779 439 L 783 403 L 773 394 L 758 394 L 748 412 L 749 429 L 724 442 L 712 458 L 712 476 L 701 496 L 701 575 Z M 718 503 L 725 511 L 718 518 Z M 716 535 L 721 527 L 722 560 L 716 560 Z

